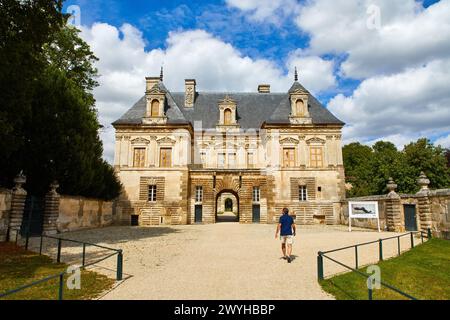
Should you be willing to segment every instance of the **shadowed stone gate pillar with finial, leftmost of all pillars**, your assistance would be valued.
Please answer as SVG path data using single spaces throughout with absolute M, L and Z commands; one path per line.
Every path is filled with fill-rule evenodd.
M 20 239 L 20 227 L 22 226 L 23 212 L 25 210 L 25 200 L 27 192 L 23 185 L 27 182 L 22 172 L 14 179 L 15 187 L 12 193 L 11 214 L 9 216 L 9 241 Z

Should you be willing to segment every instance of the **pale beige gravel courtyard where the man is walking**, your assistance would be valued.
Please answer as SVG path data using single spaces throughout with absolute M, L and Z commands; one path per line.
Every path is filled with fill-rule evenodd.
M 152 228 L 110 227 L 64 234 L 67 239 L 120 248 L 124 252 L 124 278 L 102 299 L 333 299 L 317 283 L 317 252 L 360 242 L 391 237 L 344 226 L 300 226 L 294 244 L 296 259 L 281 259 L 274 225 L 166 226 Z M 419 242 L 419 239 L 416 239 Z M 410 238 L 401 242 L 410 247 Z M 38 246 L 33 241 L 33 249 Z M 46 240 L 44 252 L 55 255 L 55 243 Z M 385 243 L 385 257 L 397 252 L 397 240 Z M 89 247 L 88 259 L 107 252 Z M 330 255 L 354 265 L 354 250 Z M 360 263 L 377 261 L 378 245 L 360 249 Z M 81 261 L 79 245 L 64 243 L 62 260 Z M 115 258 L 99 264 L 98 272 L 114 276 Z M 325 275 L 344 271 L 325 262 Z M 362 281 L 364 281 L 362 279 Z

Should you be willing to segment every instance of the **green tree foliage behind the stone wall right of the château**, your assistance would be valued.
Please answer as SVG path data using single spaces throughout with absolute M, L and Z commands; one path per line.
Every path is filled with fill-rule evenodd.
M 346 180 L 352 185 L 349 197 L 385 194 L 392 177 L 398 192 L 418 191 L 421 171 L 429 177 L 434 189 L 450 187 L 450 170 L 445 150 L 427 139 L 419 139 L 399 151 L 391 142 L 380 141 L 373 147 L 352 143 L 343 148 Z

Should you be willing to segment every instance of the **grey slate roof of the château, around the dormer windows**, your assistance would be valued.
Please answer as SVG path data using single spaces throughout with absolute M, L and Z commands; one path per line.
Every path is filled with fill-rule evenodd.
M 204 129 L 216 127 L 219 121 L 218 102 L 227 95 L 237 103 L 237 120 L 242 129 L 258 129 L 264 123 L 289 124 L 291 113 L 289 93 L 298 89 L 306 91 L 300 83 L 295 82 L 287 93 L 200 92 L 196 95 L 194 107 L 185 108 L 184 92 L 171 93 L 162 82 L 158 86 L 161 91 L 166 92 L 165 112 L 169 124 L 191 123 L 194 125 L 195 121 L 202 121 Z M 308 101 L 313 124 L 344 125 L 312 95 L 310 95 Z M 142 124 L 145 109 L 144 96 L 113 125 Z

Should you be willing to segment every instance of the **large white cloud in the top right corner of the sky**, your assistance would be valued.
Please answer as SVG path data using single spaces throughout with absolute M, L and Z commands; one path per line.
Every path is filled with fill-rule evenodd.
M 371 5 L 380 8 L 379 29 L 367 27 Z M 415 0 L 313 0 L 297 24 L 311 36 L 310 54 L 348 54 L 348 77 L 402 72 L 450 54 L 450 0 L 427 9 Z

